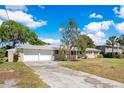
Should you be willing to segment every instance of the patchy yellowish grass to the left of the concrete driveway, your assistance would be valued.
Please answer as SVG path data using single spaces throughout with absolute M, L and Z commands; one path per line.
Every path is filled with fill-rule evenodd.
M 33 71 L 21 62 L 9 62 L 0 64 L 0 71 L 2 70 L 15 70 L 13 73 L 2 73 L 0 82 L 4 83 L 3 79 L 18 79 L 16 84 L 20 88 L 47 88 L 48 86 L 39 79 L 39 76 L 34 74 Z

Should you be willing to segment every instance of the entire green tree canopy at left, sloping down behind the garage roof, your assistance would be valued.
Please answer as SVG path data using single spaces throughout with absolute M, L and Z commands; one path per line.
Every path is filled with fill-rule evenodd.
M 43 45 L 35 32 L 31 32 L 27 26 L 19 24 L 13 20 L 4 21 L 0 26 L 1 43 L 12 43 L 15 47 L 17 43 L 30 43 L 33 45 Z

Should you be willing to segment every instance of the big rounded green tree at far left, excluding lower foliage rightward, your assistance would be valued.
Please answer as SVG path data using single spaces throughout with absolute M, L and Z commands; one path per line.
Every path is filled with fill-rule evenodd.
M 27 35 L 29 32 L 28 27 L 21 25 L 12 20 L 3 22 L 0 29 L 1 29 L 0 30 L 1 41 L 2 42 L 12 42 L 13 47 L 15 47 L 16 43 L 26 42 Z

